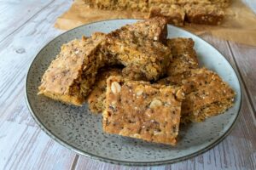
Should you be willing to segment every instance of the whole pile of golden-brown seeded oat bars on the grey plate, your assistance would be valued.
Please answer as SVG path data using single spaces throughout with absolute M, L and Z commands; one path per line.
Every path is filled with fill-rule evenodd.
M 180 123 L 223 113 L 236 94 L 199 67 L 192 39 L 166 38 L 166 23 L 154 18 L 67 42 L 38 94 L 70 105 L 87 100 L 103 113 L 106 133 L 175 145 Z

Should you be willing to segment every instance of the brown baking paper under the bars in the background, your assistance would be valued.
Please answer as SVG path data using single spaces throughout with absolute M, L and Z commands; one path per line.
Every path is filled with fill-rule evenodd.
M 209 33 L 214 37 L 256 46 L 256 15 L 240 0 L 233 0 L 225 11 L 221 26 L 186 24 L 183 28 L 197 35 Z M 55 22 L 55 27 L 70 30 L 90 22 L 113 19 L 146 19 L 148 14 L 129 11 L 107 11 L 89 8 L 82 0 L 75 0 L 72 7 Z

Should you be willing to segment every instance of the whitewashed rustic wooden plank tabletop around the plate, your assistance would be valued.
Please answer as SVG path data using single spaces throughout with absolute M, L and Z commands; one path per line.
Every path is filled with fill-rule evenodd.
M 246 2 L 256 11 L 254 0 Z M 209 35 L 202 38 L 230 61 L 244 94 L 239 122 L 212 150 L 167 166 L 123 167 L 79 156 L 41 131 L 26 107 L 26 71 L 38 50 L 62 32 L 54 22 L 71 3 L 0 1 L 0 169 L 256 169 L 256 47 Z

